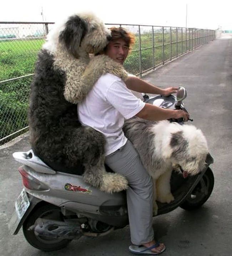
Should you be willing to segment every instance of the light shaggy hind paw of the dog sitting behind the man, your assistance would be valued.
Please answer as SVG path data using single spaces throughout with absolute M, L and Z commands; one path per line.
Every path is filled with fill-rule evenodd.
M 106 173 L 100 182 L 100 190 L 107 193 L 120 192 L 128 188 L 125 177 L 116 173 Z

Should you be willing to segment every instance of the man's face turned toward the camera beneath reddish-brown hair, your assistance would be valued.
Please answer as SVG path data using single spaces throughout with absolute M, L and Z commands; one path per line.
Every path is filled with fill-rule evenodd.
M 129 47 L 123 39 L 109 42 L 105 52 L 111 59 L 123 64 L 129 52 Z

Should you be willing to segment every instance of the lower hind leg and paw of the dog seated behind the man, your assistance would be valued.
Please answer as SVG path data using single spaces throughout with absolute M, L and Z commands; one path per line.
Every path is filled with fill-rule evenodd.
M 104 157 L 101 157 L 97 165 L 85 165 L 84 181 L 107 193 L 120 192 L 128 187 L 125 177 L 117 173 L 106 172 Z

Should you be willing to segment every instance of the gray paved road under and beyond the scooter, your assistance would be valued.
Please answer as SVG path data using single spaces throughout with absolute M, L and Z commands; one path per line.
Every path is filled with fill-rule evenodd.
M 155 236 L 167 247 L 162 255 L 232 255 L 232 38 L 210 42 L 151 72 L 145 79 L 161 87 L 186 87 L 186 107 L 194 124 L 205 133 L 215 159 L 215 188 L 201 209 L 187 212 L 178 208 L 153 219 Z M 29 148 L 26 135 L 0 147 L 0 256 L 131 255 L 128 227 L 107 237 L 83 237 L 65 249 L 49 253 L 31 247 L 22 231 L 17 236 L 9 235 L 7 222 L 21 191 L 19 164 L 11 154 Z

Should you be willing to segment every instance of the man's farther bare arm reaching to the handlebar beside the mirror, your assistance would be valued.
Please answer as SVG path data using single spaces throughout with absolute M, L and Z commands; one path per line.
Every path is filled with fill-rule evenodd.
M 144 92 L 150 94 L 160 94 L 163 96 L 168 96 L 172 93 L 177 92 L 177 87 L 168 87 L 166 89 L 160 89 L 155 85 L 149 84 L 146 81 L 136 77 L 136 76 L 128 76 L 126 82 L 126 87 L 130 90 L 137 91 L 137 92 Z

